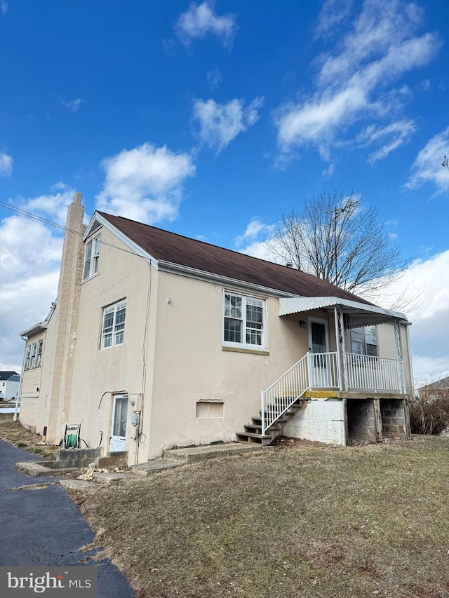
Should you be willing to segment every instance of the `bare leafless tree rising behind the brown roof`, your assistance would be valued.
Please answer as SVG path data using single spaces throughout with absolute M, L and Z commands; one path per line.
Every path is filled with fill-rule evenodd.
M 282 216 L 267 242 L 269 251 L 276 261 L 348 291 L 377 290 L 410 263 L 401 259 L 378 213 L 357 193 L 321 193 L 306 199 L 301 212 Z

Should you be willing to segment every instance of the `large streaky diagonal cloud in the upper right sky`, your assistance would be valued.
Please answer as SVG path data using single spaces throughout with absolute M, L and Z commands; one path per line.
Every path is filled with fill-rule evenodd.
M 325 4 L 332 10 L 326 18 L 321 16 L 319 31 L 340 27 L 336 10 L 340 4 Z M 377 137 L 371 137 L 370 145 L 378 146 L 369 161 L 385 158 L 405 143 L 415 130 L 408 119 L 396 118 L 377 128 L 373 123 L 403 109 L 408 88 L 396 83 L 427 64 L 441 45 L 436 34 L 416 34 L 421 20 L 422 11 L 415 4 L 366 0 L 351 30 L 343 35 L 340 31 L 335 48 L 315 61 L 319 71 L 314 94 L 300 102 L 286 102 L 274 112 L 281 154 L 311 145 L 328 159 L 335 147 L 354 144 L 354 125 L 367 120 L 370 124 L 361 135 L 375 128 Z

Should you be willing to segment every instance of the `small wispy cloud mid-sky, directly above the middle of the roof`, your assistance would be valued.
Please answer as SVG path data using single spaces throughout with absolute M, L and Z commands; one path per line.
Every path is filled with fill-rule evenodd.
M 214 100 L 195 100 L 194 118 L 199 121 L 201 141 L 220 154 L 239 133 L 258 120 L 257 109 L 263 101 L 263 97 L 256 97 L 244 107 L 245 102 L 237 99 L 227 104 L 217 104 Z

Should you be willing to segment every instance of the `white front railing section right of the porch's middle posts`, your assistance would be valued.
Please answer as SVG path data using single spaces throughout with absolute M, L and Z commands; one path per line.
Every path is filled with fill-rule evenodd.
M 402 392 L 401 362 L 372 355 L 346 354 L 348 390 Z

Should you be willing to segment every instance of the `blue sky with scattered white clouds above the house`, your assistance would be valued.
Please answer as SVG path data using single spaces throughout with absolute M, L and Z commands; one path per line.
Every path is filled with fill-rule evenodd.
M 447 375 L 448 25 L 439 0 L 2 0 L 1 201 L 63 224 L 81 191 L 88 215 L 262 257 L 304 197 L 362 193 L 414 260 L 389 294 L 420 297 L 415 374 Z M 0 366 L 20 368 L 61 231 L 0 206 L 0 233 Z

